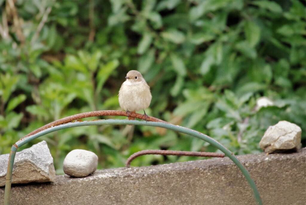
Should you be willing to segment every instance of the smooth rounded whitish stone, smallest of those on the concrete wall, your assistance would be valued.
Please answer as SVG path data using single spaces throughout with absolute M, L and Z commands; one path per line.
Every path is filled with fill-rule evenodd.
M 98 156 L 87 150 L 72 150 L 63 163 L 65 174 L 71 177 L 86 177 L 94 173 L 98 165 Z

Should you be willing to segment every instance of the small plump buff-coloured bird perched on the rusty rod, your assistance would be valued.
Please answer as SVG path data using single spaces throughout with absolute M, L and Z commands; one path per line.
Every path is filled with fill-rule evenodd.
M 128 112 L 136 112 L 149 107 L 152 99 L 150 87 L 137 70 L 130 70 L 126 74 L 126 80 L 119 90 L 120 107 Z M 144 111 L 146 115 L 146 112 Z M 134 117 L 128 117 L 135 120 Z

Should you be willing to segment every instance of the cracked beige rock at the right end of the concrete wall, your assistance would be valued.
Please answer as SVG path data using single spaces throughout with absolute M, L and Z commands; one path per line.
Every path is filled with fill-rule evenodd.
M 267 129 L 259 145 L 268 154 L 299 150 L 302 146 L 301 134 L 302 130 L 296 124 L 279 121 L 276 125 Z

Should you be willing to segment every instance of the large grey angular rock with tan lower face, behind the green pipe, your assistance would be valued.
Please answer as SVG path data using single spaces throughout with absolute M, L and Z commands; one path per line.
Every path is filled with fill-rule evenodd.
M 0 187 L 5 185 L 9 154 L 0 155 Z M 46 141 L 16 153 L 12 184 L 55 180 L 53 158 Z

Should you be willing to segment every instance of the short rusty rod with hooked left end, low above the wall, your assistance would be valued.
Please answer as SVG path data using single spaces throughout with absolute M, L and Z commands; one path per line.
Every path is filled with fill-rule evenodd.
M 175 151 L 175 150 L 142 150 L 132 154 L 125 162 L 126 167 L 130 167 L 131 162 L 142 155 L 160 154 L 160 155 L 175 155 L 175 156 L 192 156 L 192 157 L 219 157 L 223 158 L 225 154 L 214 152 L 190 152 L 190 151 Z

